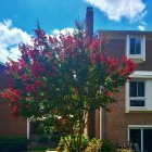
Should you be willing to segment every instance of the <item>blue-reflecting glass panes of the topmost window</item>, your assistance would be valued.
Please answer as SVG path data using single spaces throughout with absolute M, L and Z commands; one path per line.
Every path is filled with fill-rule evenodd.
M 130 54 L 141 54 L 141 43 L 142 39 L 141 37 L 130 37 L 130 48 L 129 48 L 129 53 Z

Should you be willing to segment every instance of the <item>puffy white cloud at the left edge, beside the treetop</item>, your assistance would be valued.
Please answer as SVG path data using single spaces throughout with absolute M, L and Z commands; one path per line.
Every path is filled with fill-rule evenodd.
M 13 27 L 11 20 L 0 22 L 0 62 L 7 62 L 8 58 L 17 60 L 21 55 L 17 46 L 21 42 L 30 43 L 30 36 Z

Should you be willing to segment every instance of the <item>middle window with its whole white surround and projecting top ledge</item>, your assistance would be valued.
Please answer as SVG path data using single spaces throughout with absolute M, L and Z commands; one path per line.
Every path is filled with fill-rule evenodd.
M 152 112 L 152 72 L 135 71 L 130 77 L 125 87 L 126 113 Z

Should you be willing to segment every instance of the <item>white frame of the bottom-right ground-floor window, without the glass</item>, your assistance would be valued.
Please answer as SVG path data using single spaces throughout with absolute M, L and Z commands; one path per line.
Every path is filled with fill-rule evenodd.
M 152 125 L 128 125 L 128 143 L 130 140 L 130 129 L 141 129 L 141 152 L 143 152 L 143 129 L 152 129 Z

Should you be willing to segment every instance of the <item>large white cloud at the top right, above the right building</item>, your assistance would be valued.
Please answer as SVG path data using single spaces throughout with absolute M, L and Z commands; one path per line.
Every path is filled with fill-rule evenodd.
M 142 0 L 85 0 L 107 15 L 109 20 L 129 22 L 141 21 L 145 14 L 145 4 Z

